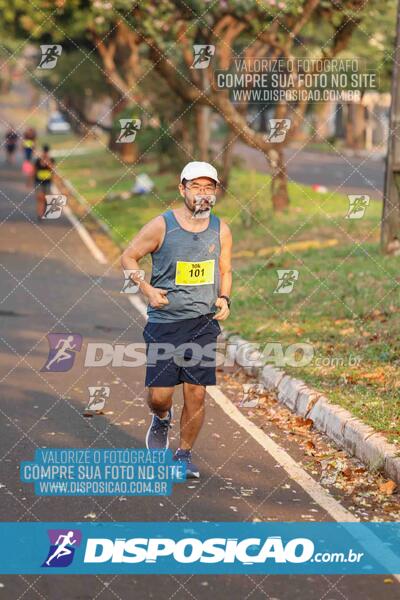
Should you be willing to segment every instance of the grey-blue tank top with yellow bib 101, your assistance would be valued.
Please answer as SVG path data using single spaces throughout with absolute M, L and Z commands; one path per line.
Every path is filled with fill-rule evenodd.
M 147 308 L 149 321 L 164 323 L 216 312 L 219 294 L 220 220 L 211 213 L 206 230 L 181 227 L 172 210 L 165 212 L 165 236 L 151 255 L 150 283 L 168 291 L 169 304 Z

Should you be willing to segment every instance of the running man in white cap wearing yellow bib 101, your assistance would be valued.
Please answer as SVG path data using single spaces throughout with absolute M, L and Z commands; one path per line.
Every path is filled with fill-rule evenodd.
M 147 254 L 152 257 L 150 283 L 136 279 L 148 299 L 143 337 L 147 344 L 148 405 L 153 417 L 146 445 L 168 448 L 172 397 L 175 386 L 182 383 L 184 406 L 174 459 L 185 464 L 188 478 L 200 477 L 191 451 L 204 421 L 206 386 L 216 383 L 215 355 L 210 354 L 210 347 L 215 352 L 221 332 L 218 321 L 229 316 L 230 308 L 232 237 L 228 225 L 210 210 L 218 183 L 212 165 L 188 163 L 179 185 L 183 206 L 147 223 L 121 261 L 124 269 L 137 271 L 141 258 Z M 172 347 L 173 356 L 166 352 L 163 357 L 158 344 Z

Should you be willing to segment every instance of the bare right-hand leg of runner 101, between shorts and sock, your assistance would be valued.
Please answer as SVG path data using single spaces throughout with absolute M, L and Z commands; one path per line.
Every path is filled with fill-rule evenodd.
M 184 405 L 181 415 L 179 442 L 179 448 L 181 450 L 191 450 L 200 433 L 205 415 L 205 396 L 206 388 L 204 385 L 195 385 L 193 383 L 184 382 Z

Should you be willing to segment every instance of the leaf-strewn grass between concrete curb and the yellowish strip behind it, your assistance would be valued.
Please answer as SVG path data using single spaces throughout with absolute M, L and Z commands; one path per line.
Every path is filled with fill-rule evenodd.
M 310 344 L 309 364 L 283 368 L 400 442 L 399 262 L 364 244 L 242 268 L 229 328 L 261 348 L 278 342 L 284 354 L 290 344 Z M 274 293 L 278 268 L 299 271 L 290 294 Z

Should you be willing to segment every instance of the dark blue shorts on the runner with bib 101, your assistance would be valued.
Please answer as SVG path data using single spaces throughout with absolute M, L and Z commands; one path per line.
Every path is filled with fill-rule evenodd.
M 221 328 L 212 317 L 147 323 L 143 331 L 146 387 L 172 387 L 183 382 L 215 385 L 216 342 Z

